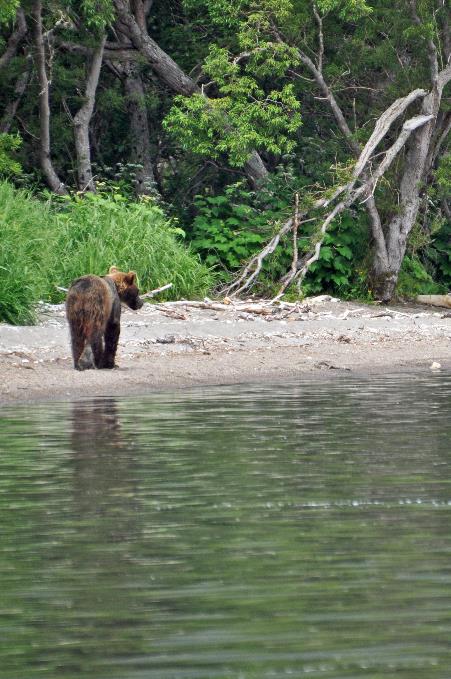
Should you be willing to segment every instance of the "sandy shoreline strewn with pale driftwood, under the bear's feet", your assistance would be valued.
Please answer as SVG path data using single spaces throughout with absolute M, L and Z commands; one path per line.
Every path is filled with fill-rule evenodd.
M 72 368 L 62 306 L 34 327 L 0 325 L 0 402 L 71 400 L 342 374 L 451 370 L 451 314 L 314 298 L 268 316 L 145 305 L 125 311 L 119 368 Z

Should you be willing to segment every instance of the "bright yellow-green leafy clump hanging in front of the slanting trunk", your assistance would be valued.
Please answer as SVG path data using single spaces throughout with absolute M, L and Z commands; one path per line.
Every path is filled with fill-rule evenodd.
M 164 126 L 183 148 L 210 158 L 227 154 L 230 164 L 238 167 L 253 149 L 289 152 L 301 125 L 293 85 L 269 89 L 263 83 L 275 83 L 295 63 L 295 51 L 287 45 L 260 44 L 244 67 L 228 50 L 213 45 L 204 72 L 219 96 L 176 97 Z

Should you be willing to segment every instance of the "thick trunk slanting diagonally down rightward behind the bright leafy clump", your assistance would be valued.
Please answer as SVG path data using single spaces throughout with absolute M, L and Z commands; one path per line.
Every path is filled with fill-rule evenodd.
M 148 60 L 150 66 L 171 90 L 177 94 L 187 97 L 195 93 L 200 93 L 200 89 L 192 78 L 190 78 L 171 57 L 164 52 L 159 45 L 139 26 L 135 17 L 130 11 L 126 0 L 113 0 L 117 15 L 121 23 L 127 29 L 127 35 L 133 46 L 141 52 Z M 254 187 L 266 179 L 268 170 L 266 169 L 260 155 L 253 151 L 244 165 L 244 171 Z

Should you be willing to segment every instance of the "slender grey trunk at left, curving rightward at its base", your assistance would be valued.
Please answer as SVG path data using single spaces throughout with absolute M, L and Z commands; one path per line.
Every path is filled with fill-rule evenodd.
M 67 193 L 66 187 L 52 164 L 50 157 L 50 105 L 49 105 L 49 81 L 45 63 L 45 46 L 42 34 L 42 0 L 34 0 L 32 6 L 32 18 L 34 22 L 34 39 L 36 48 L 36 65 L 39 78 L 39 123 L 40 123 L 40 149 L 39 159 L 41 168 L 48 185 L 55 193 L 63 195 Z

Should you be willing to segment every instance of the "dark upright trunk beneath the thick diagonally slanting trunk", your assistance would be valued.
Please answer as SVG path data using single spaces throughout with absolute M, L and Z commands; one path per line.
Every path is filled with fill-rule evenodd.
M 136 165 L 135 190 L 138 196 L 150 195 L 155 192 L 155 176 L 152 166 L 144 86 L 135 65 L 129 64 L 124 70 L 124 91 L 130 122 L 130 160 Z

